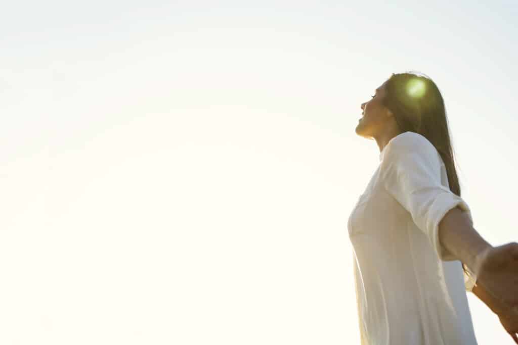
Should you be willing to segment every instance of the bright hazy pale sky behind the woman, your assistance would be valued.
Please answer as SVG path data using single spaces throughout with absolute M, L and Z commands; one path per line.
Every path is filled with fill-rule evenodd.
M 357 344 L 354 129 L 393 72 L 437 83 L 474 226 L 518 239 L 515 1 L 142 4 L 0 13 L 0 343 Z

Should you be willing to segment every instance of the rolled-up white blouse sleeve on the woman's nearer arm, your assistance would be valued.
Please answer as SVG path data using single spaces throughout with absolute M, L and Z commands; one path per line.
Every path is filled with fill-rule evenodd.
M 380 173 L 385 189 L 410 213 L 439 259 L 451 261 L 458 259 L 441 245 L 439 222 L 456 206 L 471 222 L 472 218 L 468 204 L 441 184 L 441 164 L 434 145 L 420 134 L 406 132 L 385 147 Z

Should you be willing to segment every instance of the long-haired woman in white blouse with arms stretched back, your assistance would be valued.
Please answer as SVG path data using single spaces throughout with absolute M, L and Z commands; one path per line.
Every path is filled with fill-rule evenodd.
M 348 221 L 362 344 L 476 344 L 466 291 L 518 344 L 518 244 L 473 229 L 439 89 L 399 73 L 371 97 L 356 134 L 376 140 L 380 165 Z

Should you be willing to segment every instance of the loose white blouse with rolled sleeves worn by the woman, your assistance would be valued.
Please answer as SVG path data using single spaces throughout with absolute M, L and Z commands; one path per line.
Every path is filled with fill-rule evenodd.
M 421 134 L 404 132 L 348 220 L 362 345 L 473 345 L 466 291 L 476 277 L 441 246 L 438 224 L 455 206 L 441 156 Z

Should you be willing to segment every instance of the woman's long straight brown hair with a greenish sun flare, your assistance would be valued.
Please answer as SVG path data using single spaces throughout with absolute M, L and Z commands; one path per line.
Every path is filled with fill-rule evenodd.
M 419 133 L 435 146 L 446 167 L 450 190 L 460 197 L 444 100 L 434 81 L 419 72 L 392 73 L 382 103 L 394 114 L 400 133 Z M 466 265 L 462 266 L 470 275 Z

